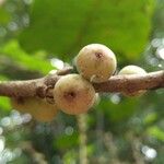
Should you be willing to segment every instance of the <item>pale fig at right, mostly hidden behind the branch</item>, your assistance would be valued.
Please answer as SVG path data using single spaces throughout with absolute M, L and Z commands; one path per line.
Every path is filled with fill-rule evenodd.
M 138 67 L 138 66 L 126 66 L 125 68 L 122 68 L 118 74 L 124 75 L 124 74 L 147 74 L 145 70 L 143 70 L 142 68 Z M 145 93 L 145 91 L 137 91 L 137 92 L 124 92 L 122 94 L 126 96 L 140 96 L 143 93 Z

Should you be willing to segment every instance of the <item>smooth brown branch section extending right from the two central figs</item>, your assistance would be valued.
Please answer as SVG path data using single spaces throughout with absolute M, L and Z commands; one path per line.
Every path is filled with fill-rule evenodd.
M 94 84 L 97 92 L 134 92 L 164 87 L 164 71 L 144 75 L 114 75 L 107 82 Z

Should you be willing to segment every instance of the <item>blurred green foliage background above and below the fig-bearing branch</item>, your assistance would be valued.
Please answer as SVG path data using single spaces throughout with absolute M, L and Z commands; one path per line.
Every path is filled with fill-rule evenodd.
M 91 43 L 110 47 L 118 70 L 164 69 L 164 1 L 0 0 L 0 80 L 43 77 Z M 48 124 L 0 97 L 0 164 L 163 164 L 163 97 L 102 94 L 87 114 Z

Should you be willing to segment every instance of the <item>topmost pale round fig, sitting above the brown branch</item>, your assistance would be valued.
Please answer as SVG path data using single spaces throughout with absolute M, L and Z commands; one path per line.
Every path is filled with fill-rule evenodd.
M 99 83 L 112 77 L 117 61 L 114 52 L 105 45 L 91 44 L 80 50 L 75 57 L 75 65 L 85 79 Z

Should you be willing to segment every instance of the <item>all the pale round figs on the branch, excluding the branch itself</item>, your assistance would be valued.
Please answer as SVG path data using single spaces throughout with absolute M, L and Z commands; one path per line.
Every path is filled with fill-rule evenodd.
M 102 83 L 116 72 L 117 59 L 115 54 L 105 45 L 91 44 L 83 47 L 75 57 L 79 74 L 61 77 L 52 90 L 55 104 L 49 104 L 39 97 L 30 97 L 23 101 L 11 99 L 13 108 L 30 113 L 38 121 L 51 121 L 60 109 L 69 115 L 86 113 L 97 101 L 98 93 L 92 83 Z M 118 74 L 147 74 L 138 66 L 126 66 Z M 141 95 L 145 91 L 122 93 L 127 96 Z

